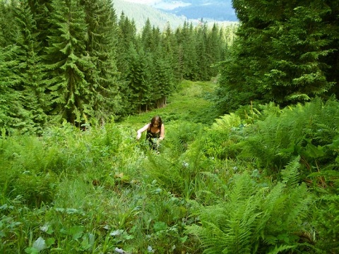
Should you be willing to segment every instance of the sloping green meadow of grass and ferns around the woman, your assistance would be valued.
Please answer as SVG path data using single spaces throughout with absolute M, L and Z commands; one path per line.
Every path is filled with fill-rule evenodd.
M 337 253 L 338 102 L 217 118 L 213 82 L 181 85 L 87 131 L 3 134 L 0 253 Z M 154 115 L 159 155 L 135 139 Z

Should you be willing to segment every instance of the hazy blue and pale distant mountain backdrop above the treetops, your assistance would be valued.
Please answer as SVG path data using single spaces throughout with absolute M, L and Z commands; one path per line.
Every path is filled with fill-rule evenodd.
M 131 0 L 112 0 L 112 3 L 116 10 L 117 17 L 119 18 L 121 12 L 124 12 L 125 16 L 134 20 L 137 30 L 140 31 L 148 18 L 150 19 L 151 25 L 160 28 L 160 30 L 165 29 L 167 24 L 169 24 L 172 29 L 176 29 L 184 25 L 185 21 L 197 25 L 201 18 L 208 24 L 218 23 L 220 25 L 230 25 L 234 23 L 234 20 L 232 20 L 232 11 L 234 13 L 234 10 L 232 9 L 232 5 L 225 4 L 228 1 L 231 0 L 208 1 L 209 3 L 213 2 L 212 6 L 211 4 L 203 5 L 203 2 L 207 2 L 203 0 L 162 0 L 161 2 L 157 1 L 157 4 L 153 4 L 152 6 L 135 2 L 132 3 Z M 219 6 L 219 10 L 217 6 Z M 227 10 L 229 10 L 230 14 L 227 14 Z M 227 15 L 230 16 L 230 18 L 227 18 Z

